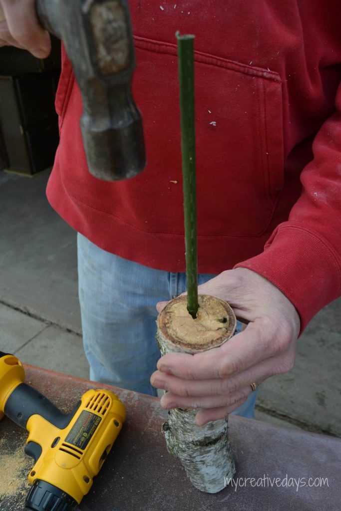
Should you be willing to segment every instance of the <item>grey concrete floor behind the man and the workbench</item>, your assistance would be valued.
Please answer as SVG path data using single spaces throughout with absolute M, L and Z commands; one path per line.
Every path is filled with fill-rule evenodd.
M 77 298 L 76 234 L 52 208 L 48 172 L 0 172 L 0 350 L 88 378 Z M 311 321 L 295 367 L 259 389 L 257 418 L 341 436 L 341 300 Z

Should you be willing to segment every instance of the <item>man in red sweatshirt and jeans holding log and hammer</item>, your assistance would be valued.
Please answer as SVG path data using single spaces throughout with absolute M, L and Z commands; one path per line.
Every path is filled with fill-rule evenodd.
M 32 2 L 1 3 L 3 42 L 46 55 Z M 158 357 L 153 304 L 160 310 L 185 290 L 174 34 L 193 33 L 199 292 L 228 301 L 248 324 L 217 349 L 162 357 L 151 383 L 168 390 L 163 407 L 200 408 L 198 424 L 245 403 L 239 410 L 251 416 L 255 386 L 293 366 L 300 333 L 341 294 L 341 7 L 322 0 L 129 6 L 146 170 L 115 183 L 89 175 L 81 98 L 64 53 L 56 98 L 60 145 L 47 194 L 79 233 L 90 376 L 145 391 Z

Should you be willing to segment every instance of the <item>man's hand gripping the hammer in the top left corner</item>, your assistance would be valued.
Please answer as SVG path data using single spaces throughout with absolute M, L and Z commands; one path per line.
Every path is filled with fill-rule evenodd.
M 34 0 L 0 0 L 0 47 L 16 46 L 43 59 L 51 51 L 49 33 L 37 19 Z

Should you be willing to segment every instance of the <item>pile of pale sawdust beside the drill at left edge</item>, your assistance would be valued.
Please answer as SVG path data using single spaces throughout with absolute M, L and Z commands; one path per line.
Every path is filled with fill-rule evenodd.
M 24 445 L 11 451 L 6 439 L 0 439 L 0 500 L 4 496 L 28 493 L 30 485 L 27 476 L 32 469 L 32 461 L 25 455 Z

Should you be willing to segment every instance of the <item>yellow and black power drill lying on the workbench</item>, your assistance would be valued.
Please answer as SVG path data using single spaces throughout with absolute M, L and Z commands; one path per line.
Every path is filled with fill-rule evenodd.
M 74 511 L 122 428 L 125 407 L 109 390 L 88 390 L 64 414 L 24 379 L 21 362 L 0 352 L 0 419 L 28 430 L 25 452 L 35 461 L 26 508 Z

